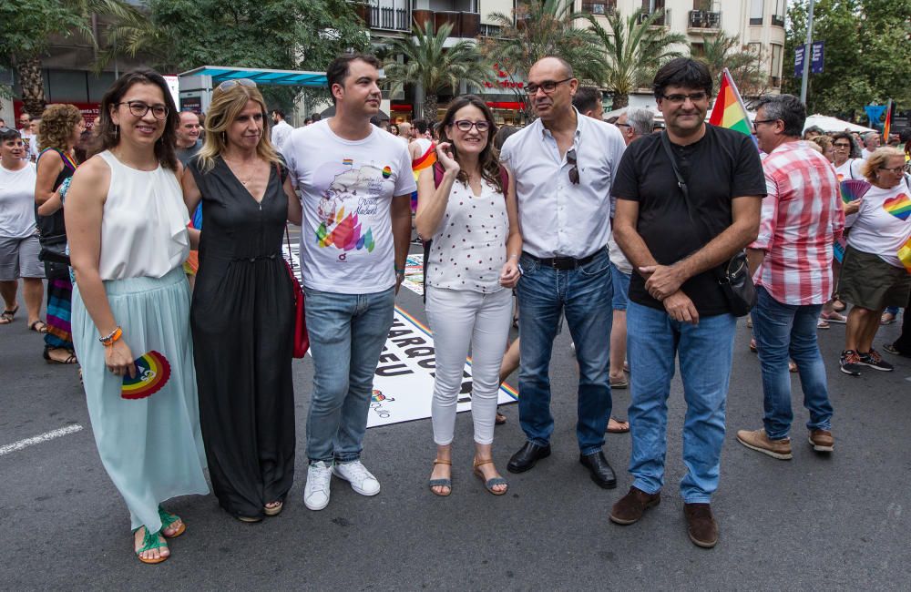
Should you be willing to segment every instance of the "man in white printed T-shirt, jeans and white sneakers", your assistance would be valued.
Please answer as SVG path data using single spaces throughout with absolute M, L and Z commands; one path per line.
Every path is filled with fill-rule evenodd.
M 374 372 L 404 279 L 415 190 L 408 148 L 370 124 L 380 62 L 341 56 L 326 78 L 335 117 L 295 129 L 284 147 L 303 204 L 301 265 L 313 393 L 304 505 L 329 504 L 332 475 L 361 495 L 380 484 L 360 456 Z

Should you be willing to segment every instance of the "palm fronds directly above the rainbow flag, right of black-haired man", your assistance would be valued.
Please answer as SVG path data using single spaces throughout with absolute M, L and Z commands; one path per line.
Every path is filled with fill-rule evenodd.
M 743 97 L 759 97 L 765 92 L 768 78 L 763 70 L 762 56 L 743 49 L 737 37 L 726 33 L 719 33 L 714 38 L 702 36 L 701 46 L 691 47 L 691 53 L 709 66 L 716 85 L 720 84 L 724 68 L 728 68 Z

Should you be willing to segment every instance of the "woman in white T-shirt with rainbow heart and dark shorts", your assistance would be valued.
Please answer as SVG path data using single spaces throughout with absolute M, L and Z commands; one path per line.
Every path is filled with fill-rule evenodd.
M 879 319 L 887 306 L 905 306 L 911 293 L 911 261 L 899 250 L 911 241 L 911 187 L 905 178 L 905 154 L 898 148 L 877 148 L 863 173 L 872 187 L 844 206 L 856 213 L 848 235 L 838 294 L 854 307 L 848 313 L 841 371 L 859 376 L 866 368 L 889 372 L 873 348 Z

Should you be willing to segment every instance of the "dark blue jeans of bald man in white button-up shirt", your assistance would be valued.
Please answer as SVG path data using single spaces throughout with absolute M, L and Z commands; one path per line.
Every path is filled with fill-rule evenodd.
M 576 437 L 582 454 L 598 452 L 610 416 L 610 282 L 608 250 L 576 270 L 542 267 L 522 255 L 518 282 L 519 424 L 529 442 L 550 443 L 550 355 L 560 312 L 566 315 L 578 360 Z

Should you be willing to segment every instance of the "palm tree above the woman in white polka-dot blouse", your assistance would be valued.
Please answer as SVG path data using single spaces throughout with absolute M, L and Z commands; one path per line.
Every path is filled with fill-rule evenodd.
M 403 56 L 404 63 L 391 59 L 384 66 L 386 80 L 392 83 L 393 92 L 401 90 L 406 84 L 424 87 L 421 112 L 430 121 L 436 120 L 440 91 L 451 88 L 457 92 L 463 83 L 476 87 L 484 83 L 486 69 L 473 42 L 462 40 L 454 46 L 445 47 L 445 40 L 452 29 L 448 23 L 436 32 L 429 22 L 423 26 L 415 25 L 413 38 L 395 39 L 392 43 L 392 54 Z M 417 110 L 415 108 L 415 112 Z

